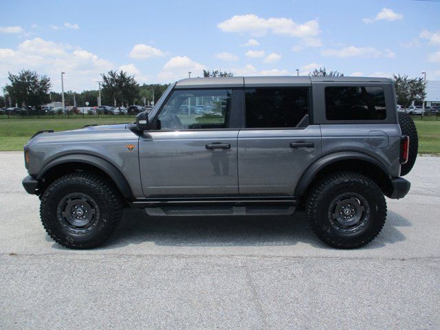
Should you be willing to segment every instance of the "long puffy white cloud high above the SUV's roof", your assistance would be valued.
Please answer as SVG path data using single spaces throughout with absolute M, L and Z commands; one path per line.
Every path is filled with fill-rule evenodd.
M 255 14 L 236 15 L 217 24 L 223 32 L 265 36 L 267 33 L 284 34 L 298 38 L 317 36 L 320 33 L 317 20 L 300 24 L 285 17 L 263 19 Z

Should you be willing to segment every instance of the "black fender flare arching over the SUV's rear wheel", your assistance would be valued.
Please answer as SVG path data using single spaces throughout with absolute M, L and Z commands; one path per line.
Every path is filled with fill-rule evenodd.
M 323 168 L 335 162 L 340 162 L 341 160 L 351 160 L 351 159 L 363 160 L 364 162 L 369 162 L 377 166 L 384 172 L 386 177 L 388 177 L 388 179 L 391 180 L 391 175 L 389 174 L 387 168 L 374 157 L 356 151 L 342 151 L 339 153 L 331 153 L 329 155 L 325 155 L 324 157 L 318 159 L 316 162 L 311 164 L 311 166 L 309 166 L 309 168 L 305 170 L 300 180 L 298 181 L 294 195 L 303 196 L 303 194 L 309 187 L 309 184 L 311 184 L 311 181 L 313 181 L 315 175 L 318 174 L 319 171 L 322 170 Z

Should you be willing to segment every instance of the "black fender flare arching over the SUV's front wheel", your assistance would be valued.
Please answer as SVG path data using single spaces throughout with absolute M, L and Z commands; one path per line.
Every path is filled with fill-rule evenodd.
M 118 170 L 118 168 L 116 168 L 113 164 L 107 162 L 107 160 L 92 155 L 74 154 L 58 157 L 48 164 L 45 164 L 45 166 L 43 166 L 39 174 L 36 176 L 36 179 L 40 180 L 45 177 L 48 171 L 55 166 L 69 163 L 87 164 L 102 170 L 102 172 L 109 175 L 113 183 L 118 187 L 124 197 L 133 199 L 133 192 L 131 191 L 129 182 L 126 181 L 126 178 L 124 175 L 122 175 L 120 170 Z

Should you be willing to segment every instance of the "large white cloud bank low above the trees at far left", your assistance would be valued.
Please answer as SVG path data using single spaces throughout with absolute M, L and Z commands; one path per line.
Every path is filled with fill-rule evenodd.
M 81 91 L 96 88 L 95 80 L 108 72 L 113 64 L 87 50 L 41 38 L 25 40 L 17 50 L 0 49 L 0 85 L 7 82 L 8 72 L 32 69 L 52 80 L 53 89 L 61 89 L 61 72 L 65 72 L 65 89 Z

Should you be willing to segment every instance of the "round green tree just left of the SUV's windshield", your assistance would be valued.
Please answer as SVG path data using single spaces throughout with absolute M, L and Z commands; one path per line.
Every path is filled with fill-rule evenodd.
M 131 104 L 139 98 L 139 84 L 134 76 L 129 76 L 126 72 L 111 70 L 102 74 L 101 92 L 104 98 L 116 100 L 117 104 Z

